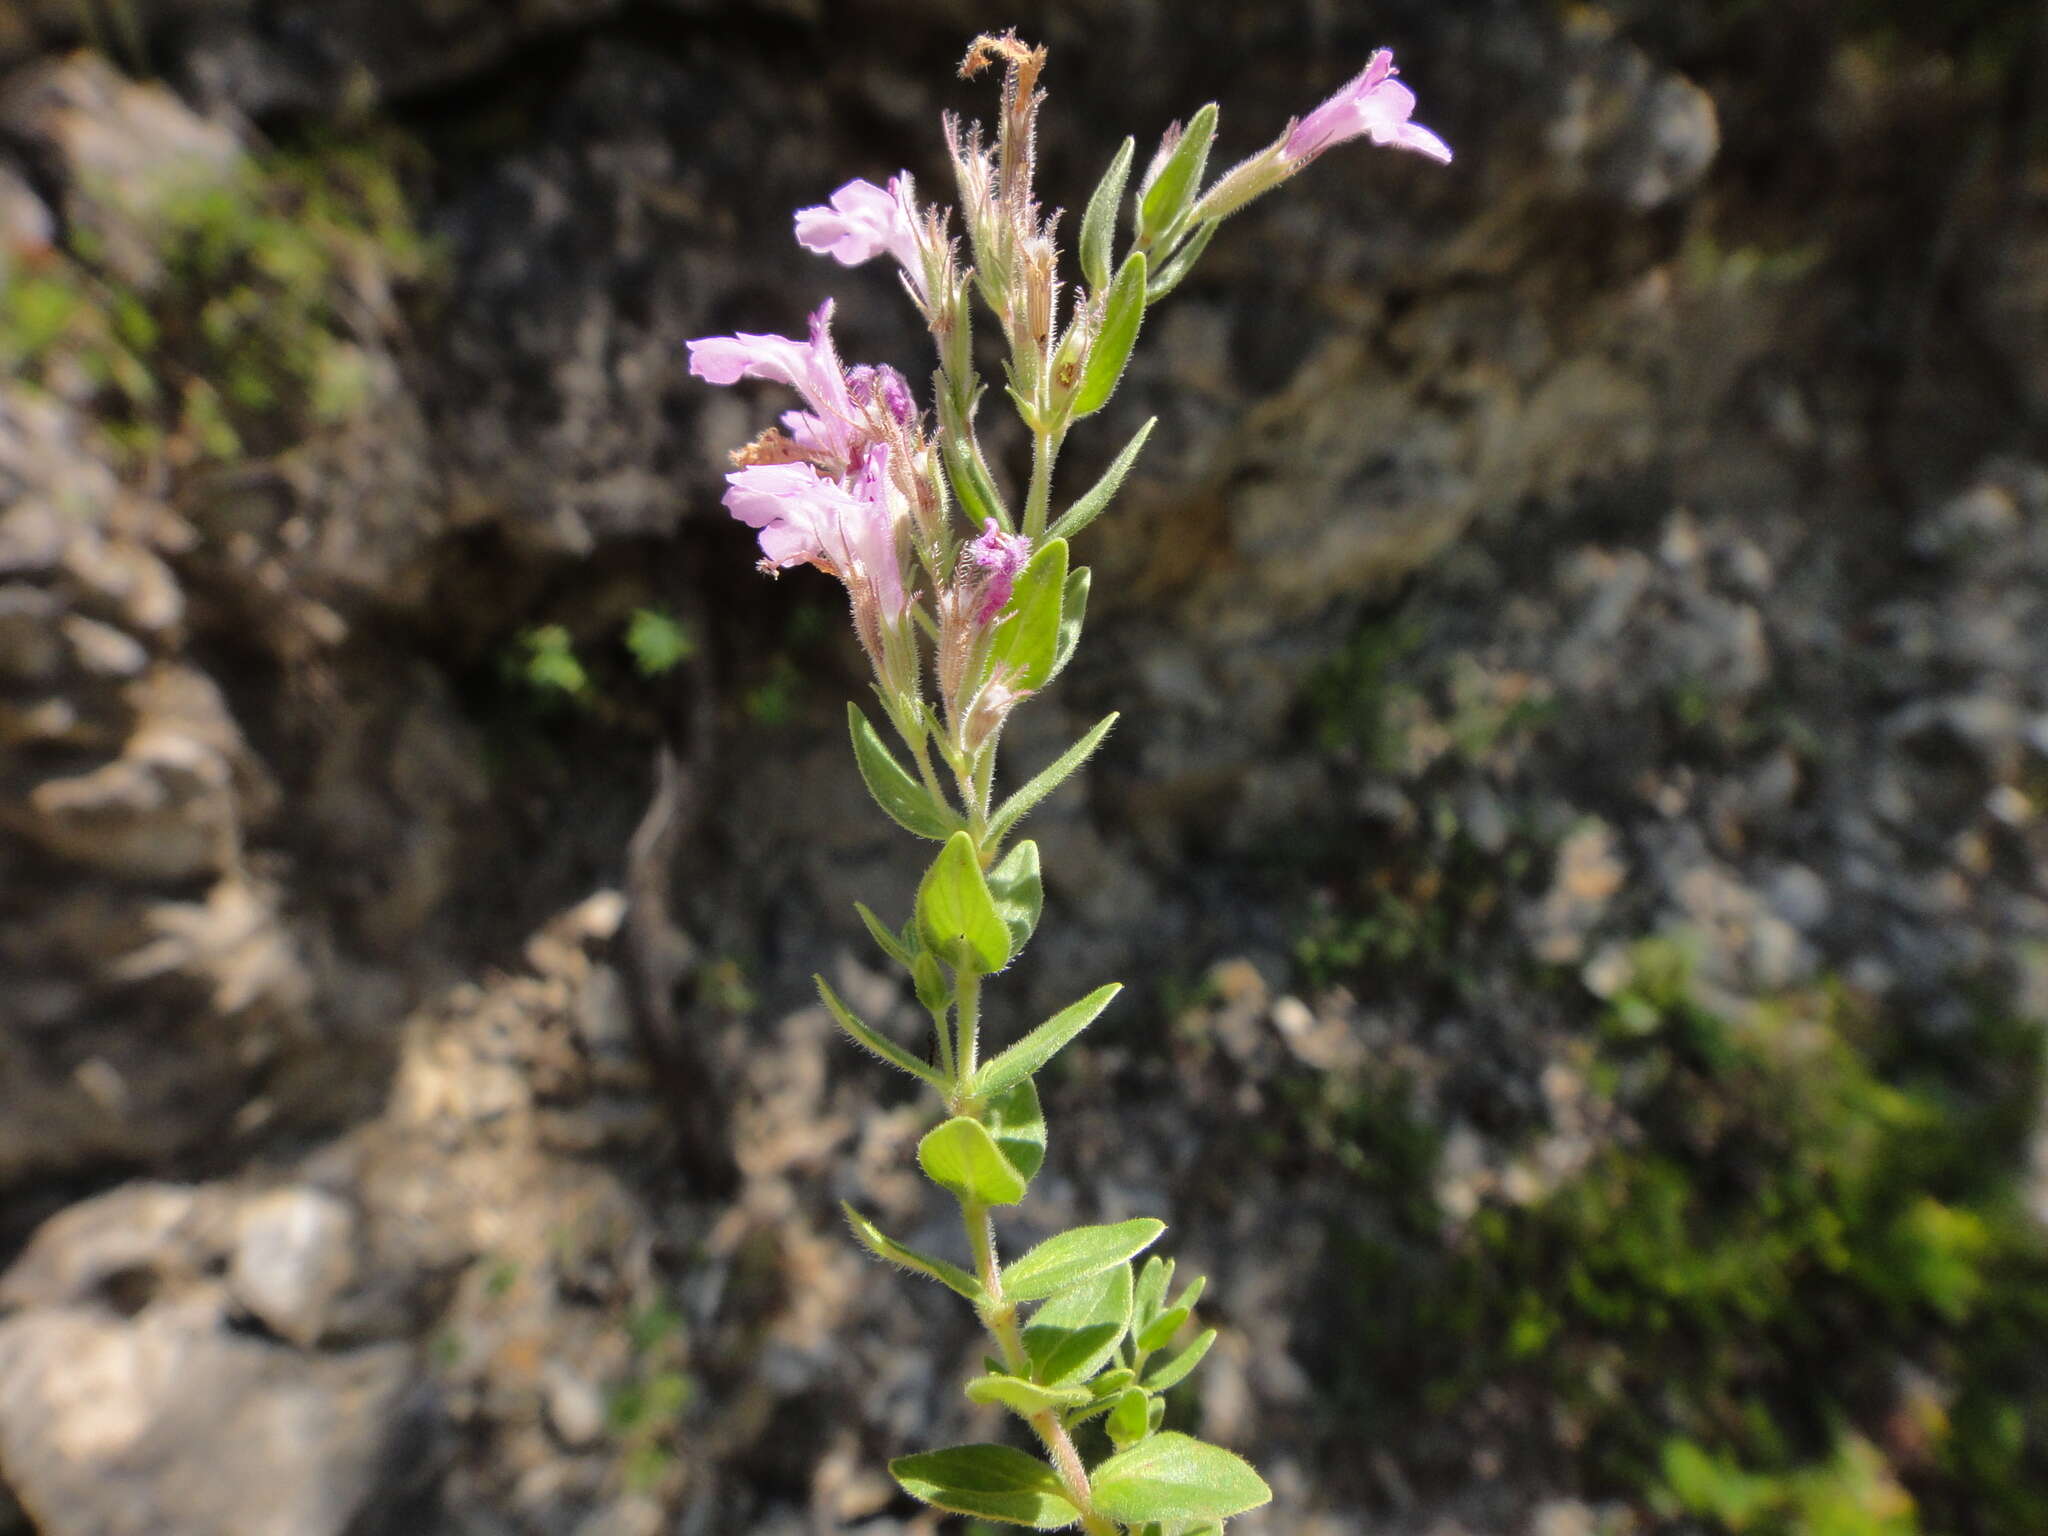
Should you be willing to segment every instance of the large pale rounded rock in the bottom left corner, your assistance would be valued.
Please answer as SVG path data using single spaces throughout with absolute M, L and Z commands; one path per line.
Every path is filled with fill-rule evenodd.
M 430 1421 L 412 1348 L 260 1331 L 311 1346 L 348 1225 L 311 1190 L 147 1184 L 47 1223 L 0 1288 L 0 1460 L 37 1530 L 338 1534 L 401 1495 Z

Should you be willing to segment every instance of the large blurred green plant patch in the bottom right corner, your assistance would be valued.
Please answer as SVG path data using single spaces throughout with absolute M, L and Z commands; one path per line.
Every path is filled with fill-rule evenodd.
M 1729 1018 L 1675 946 L 1634 958 L 1577 1063 L 1632 1130 L 1548 1194 L 1446 1239 L 1401 1112 L 1350 1120 L 1409 1188 L 1343 1233 L 1333 1389 L 1389 1430 L 1538 1395 L 1563 1444 L 1524 1450 L 1729 1532 L 2048 1530 L 2038 1030 L 1987 1006 L 1933 1044 L 1833 985 Z

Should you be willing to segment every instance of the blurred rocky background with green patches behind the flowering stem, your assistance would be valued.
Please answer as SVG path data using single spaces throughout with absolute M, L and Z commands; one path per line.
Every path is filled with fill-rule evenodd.
M 788 217 L 1012 23 L 1049 203 L 1380 43 L 1458 150 L 1069 449 L 1161 418 L 993 1028 L 1133 985 L 1012 1241 L 1169 1219 L 1247 1536 L 2048 1530 L 2042 6 L 1026 12 L 0 4 L 0 1532 L 954 1530 L 971 1319 L 836 1214 L 952 1241 L 930 1112 L 809 989 L 915 1038 L 920 850 L 682 342 L 922 377 Z

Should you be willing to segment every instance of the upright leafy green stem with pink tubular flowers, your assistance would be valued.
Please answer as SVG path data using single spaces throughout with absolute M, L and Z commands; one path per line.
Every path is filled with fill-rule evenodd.
M 854 760 L 891 819 L 940 844 L 905 924 L 858 907 L 932 1016 L 932 1057 L 858 1020 L 823 977 L 817 989 L 848 1036 L 942 1100 L 946 1118 L 918 1143 L 918 1163 L 958 1202 L 971 1268 L 887 1237 L 852 1206 L 846 1219 L 872 1253 L 973 1305 L 995 1354 L 967 1397 L 1012 1411 L 1044 1454 L 952 1446 L 899 1456 L 889 1470 L 918 1499 L 981 1520 L 1202 1536 L 1270 1491 L 1239 1456 L 1161 1427 L 1163 1395 L 1217 1337 L 1206 1329 L 1159 1358 L 1190 1327 L 1202 1294 L 1200 1278 L 1176 1292 L 1171 1260 L 1151 1255 L 1135 1268 L 1165 1225 L 1077 1227 L 997 1262 L 989 1212 L 1024 1198 L 1047 1153 L 1032 1077 L 1118 991 L 1098 987 L 983 1057 L 983 981 L 1018 956 L 1042 905 L 1038 846 L 1010 840 L 1102 745 L 1116 715 L 1001 799 L 995 750 L 1010 713 L 1073 655 L 1090 575 L 1071 563 L 1069 541 L 1108 508 L 1153 428 L 1145 422 L 1102 479 L 1053 516 L 1061 444 L 1108 403 L 1145 311 L 1186 279 L 1223 219 L 1333 143 L 1370 137 L 1446 162 L 1450 150 L 1409 121 L 1415 96 L 1395 80 L 1386 49 L 1206 188 L 1217 106 L 1204 106 L 1165 131 L 1130 199 L 1126 240 L 1135 141 L 1124 139 L 1081 217 L 1081 283 L 1069 289 L 1059 276 L 1059 215 L 1044 215 L 1032 188 L 1044 49 L 1016 33 L 979 37 L 961 74 L 991 63 L 1004 66 L 993 145 L 981 125 L 946 119 L 967 264 L 950 233 L 954 213 L 920 205 L 909 174 L 887 186 L 848 182 L 827 205 L 797 213 L 797 240 L 813 252 L 844 264 L 883 254 L 897 262 L 938 348 L 932 414 L 895 369 L 840 362 L 829 301 L 805 340 L 690 342 L 690 371 L 715 385 L 766 379 L 801 395 L 801 410 L 733 453 L 725 506 L 760 532 L 764 571 L 815 565 L 846 586 L 881 713 L 909 766 L 848 705 Z M 971 297 L 995 317 L 1006 393 L 1030 432 L 1030 477 L 1016 510 L 975 432 L 985 385 Z M 1073 1432 L 1096 1419 L 1110 1454 L 1090 1466 Z

